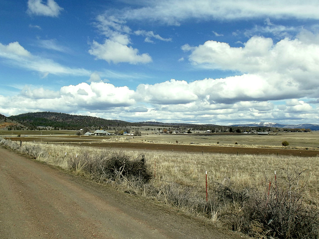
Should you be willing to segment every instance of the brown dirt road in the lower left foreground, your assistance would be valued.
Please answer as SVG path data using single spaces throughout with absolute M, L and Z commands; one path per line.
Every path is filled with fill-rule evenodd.
M 243 237 L 0 148 L 0 238 Z

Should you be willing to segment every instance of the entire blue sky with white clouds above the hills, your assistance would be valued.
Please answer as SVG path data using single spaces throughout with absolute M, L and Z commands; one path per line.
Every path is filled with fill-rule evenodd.
M 318 0 L 1 0 L 0 114 L 319 123 Z

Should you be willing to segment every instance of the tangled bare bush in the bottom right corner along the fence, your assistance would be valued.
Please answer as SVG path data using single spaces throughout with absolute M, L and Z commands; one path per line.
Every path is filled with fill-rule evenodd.
M 221 220 L 228 228 L 252 237 L 317 239 L 319 210 L 304 202 L 301 173 L 287 173 L 286 184 L 279 187 L 275 181 L 275 186 L 263 194 L 217 183 L 214 193 L 221 203 Z

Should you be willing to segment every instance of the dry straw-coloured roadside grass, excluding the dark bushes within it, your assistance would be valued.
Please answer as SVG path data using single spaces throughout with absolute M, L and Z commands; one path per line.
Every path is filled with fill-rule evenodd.
M 25 149 L 32 152 L 32 157 L 66 170 L 70 169 L 68 162 L 70 160 L 73 161 L 77 173 L 83 172 L 87 165 L 87 162 L 82 160 L 83 155 L 123 153 L 121 149 L 112 149 L 110 151 L 100 148 L 44 143 L 23 142 L 23 144 Z M 20 150 L 19 146 L 13 146 L 13 148 Z M 283 217 L 283 215 L 287 214 L 287 211 L 285 211 L 288 208 L 287 200 L 291 200 L 291 195 L 296 195 L 294 204 L 289 204 L 289 206 L 295 206 L 289 209 L 287 215 L 292 215 L 293 217 L 302 215 L 303 218 L 307 218 L 310 215 L 309 212 L 313 212 L 314 214 L 310 215 L 309 220 L 314 221 L 315 217 L 315 229 L 309 229 L 312 230 L 309 233 L 310 236 L 299 235 L 298 238 L 318 238 L 318 157 L 201 154 L 137 149 L 126 149 L 125 154 L 133 159 L 141 158 L 142 154 L 145 155 L 146 165 L 153 175 L 156 162 L 156 177 L 150 183 L 145 184 L 139 180 L 122 180 L 121 182 L 117 181 L 115 184 L 115 180 L 111 180 L 113 185 L 121 187 L 127 192 L 154 198 L 172 206 L 180 207 L 183 210 L 207 217 L 211 221 L 227 226 L 230 229 L 247 233 L 250 236 L 261 237 L 266 233 L 267 236 L 278 238 L 296 237 L 294 235 L 297 234 L 294 234 L 292 230 L 294 227 L 297 228 L 295 224 L 300 224 L 300 222 L 291 220 L 290 225 L 281 225 L 282 232 L 275 232 L 275 229 L 271 228 L 272 225 L 267 225 L 268 222 L 263 217 L 271 217 L 272 220 L 275 217 Z M 206 171 L 208 202 L 206 202 L 205 192 Z M 275 171 L 277 176 L 276 184 Z M 292 181 L 292 175 L 297 175 L 294 177 L 298 178 L 298 182 L 296 180 Z M 268 191 L 269 182 L 272 182 L 270 191 Z M 276 190 L 282 190 L 280 194 L 281 201 L 279 202 L 279 194 L 275 194 L 278 191 L 274 191 L 275 186 Z M 268 196 L 268 192 L 270 192 L 270 196 Z M 295 192 L 295 194 L 291 192 Z M 290 199 L 287 199 L 289 195 Z M 227 197 L 231 200 L 227 201 Z M 300 204 L 298 197 L 302 198 L 302 203 Z M 307 211 L 307 208 L 301 207 L 302 205 L 310 207 L 311 211 Z M 281 207 L 286 214 L 278 215 L 278 212 L 274 213 L 274 210 L 278 207 Z M 256 209 L 261 213 L 258 214 L 259 211 L 255 212 L 254 210 Z M 292 209 L 296 211 L 294 214 Z M 254 218 L 251 215 L 252 211 L 254 211 L 255 216 L 259 216 Z M 302 214 L 298 214 L 300 212 Z M 252 219 L 253 221 L 249 221 Z M 275 223 L 273 224 L 275 225 Z M 304 225 L 303 228 L 306 228 L 306 226 Z M 267 233 L 268 230 L 269 232 Z M 316 232 L 317 236 L 314 236 Z

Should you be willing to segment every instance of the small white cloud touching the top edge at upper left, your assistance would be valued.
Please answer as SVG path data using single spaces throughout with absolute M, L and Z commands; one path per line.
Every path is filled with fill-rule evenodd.
M 46 4 L 42 0 L 28 0 L 27 13 L 30 15 L 57 17 L 62 10 L 54 0 L 47 0 Z

